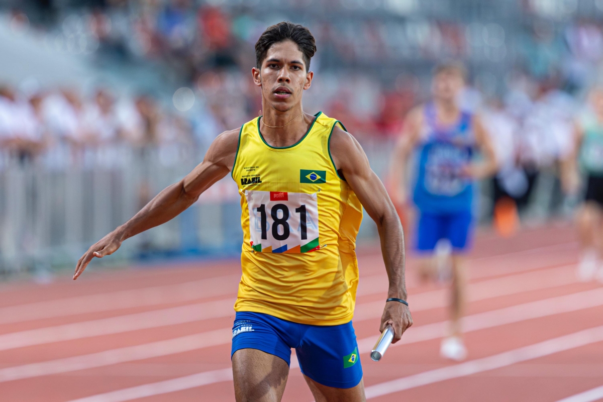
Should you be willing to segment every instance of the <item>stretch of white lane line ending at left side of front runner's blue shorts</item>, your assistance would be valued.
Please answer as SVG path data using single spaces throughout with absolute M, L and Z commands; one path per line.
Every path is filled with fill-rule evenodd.
M 0 369 L 0 382 L 168 356 L 169 354 L 183 353 L 191 350 L 227 344 L 230 342 L 231 338 L 232 330 L 230 328 L 222 328 L 214 331 L 181 336 L 180 338 L 166 339 L 165 341 L 151 342 L 148 344 L 123 347 L 80 356 L 65 357 L 63 359 L 48 360 L 40 363 L 7 367 Z

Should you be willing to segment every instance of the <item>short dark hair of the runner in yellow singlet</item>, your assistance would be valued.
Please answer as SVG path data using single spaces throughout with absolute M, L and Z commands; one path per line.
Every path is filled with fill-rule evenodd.
M 279 22 L 268 27 L 256 42 L 256 67 L 260 68 L 268 54 L 268 49 L 274 43 L 292 40 L 297 43 L 298 49 L 303 53 L 303 62 L 306 71 L 310 69 L 310 59 L 316 52 L 316 43 L 310 30 L 303 25 L 293 24 L 289 21 Z

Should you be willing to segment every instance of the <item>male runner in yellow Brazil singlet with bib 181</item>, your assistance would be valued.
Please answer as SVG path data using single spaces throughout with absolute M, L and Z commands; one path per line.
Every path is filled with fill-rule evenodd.
M 174 218 L 230 172 L 241 192 L 244 231 L 232 340 L 239 402 L 280 401 L 291 348 L 317 402 L 365 400 L 351 322 L 362 206 L 379 228 L 390 280 L 380 330 L 392 324 L 396 342 L 412 325 L 402 225 L 384 186 L 340 122 L 303 111 L 315 51 L 307 28 L 269 27 L 251 71 L 264 115 L 220 134 L 197 168 L 90 247 L 75 269 L 74 279 L 93 257 Z

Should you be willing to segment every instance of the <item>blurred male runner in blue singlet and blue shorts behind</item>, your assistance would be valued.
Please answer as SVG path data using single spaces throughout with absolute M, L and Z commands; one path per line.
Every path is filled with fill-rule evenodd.
M 432 257 L 438 240 L 448 239 L 452 245 L 452 326 L 440 353 L 453 360 L 467 355 L 461 338 L 467 280 L 462 256 L 472 226 L 472 181 L 496 171 L 494 151 L 480 119 L 459 107 L 464 84 L 463 66 L 442 64 L 435 69 L 433 101 L 409 112 L 390 172 L 394 201 L 404 204 L 405 167 L 411 153 L 418 151 L 414 203 L 420 213 L 417 250 L 422 255 L 421 277 L 435 279 L 437 275 Z M 483 163 L 473 163 L 474 148 L 481 148 Z

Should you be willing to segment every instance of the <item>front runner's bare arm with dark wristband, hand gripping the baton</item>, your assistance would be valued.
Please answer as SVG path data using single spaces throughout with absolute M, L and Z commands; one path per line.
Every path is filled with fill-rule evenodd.
M 330 151 L 336 169 L 343 174 L 368 215 L 377 224 L 385 269 L 390 279 L 388 298 L 406 300 L 404 233 L 390 196 L 368 164 L 362 147 L 349 133 L 335 127 L 330 139 Z M 398 301 L 385 303 L 379 330 L 383 331 L 387 324 L 392 324 L 396 332 L 393 342 L 399 341 L 406 328 L 412 325 L 408 307 Z

